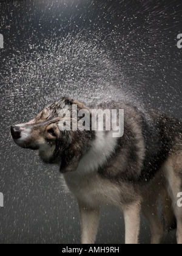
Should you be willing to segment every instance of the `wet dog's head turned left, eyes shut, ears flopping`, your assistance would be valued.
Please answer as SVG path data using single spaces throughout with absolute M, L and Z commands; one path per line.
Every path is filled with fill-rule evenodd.
M 62 98 L 44 108 L 29 123 L 12 126 L 13 140 L 21 148 L 38 150 L 39 156 L 46 163 L 61 163 L 61 172 L 75 171 L 79 160 L 89 150 L 94 133 L 89 130 L 60 129 L 60 122 L 64 127 L 67 121 L 66 111 L 70 112 L 69 122 L 70 127 L 73 127 L 72 105 L 76 105 L 78 111 L 89 111 L 78 101 Z

